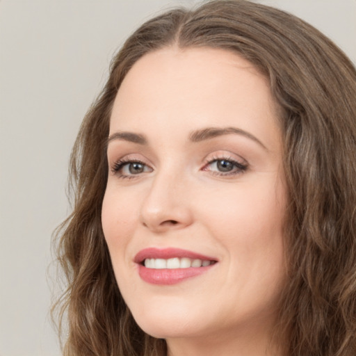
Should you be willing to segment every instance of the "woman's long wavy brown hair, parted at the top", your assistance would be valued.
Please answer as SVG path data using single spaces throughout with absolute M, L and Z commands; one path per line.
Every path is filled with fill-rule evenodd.
M 244 0 L 170 10 L 140 26 L 113 59 L 72 151 L 73 211 L 55 233 L 67 278 L 54 308 L 64 355 L 166 352 L 165 342 L 140 330 L 122 300 L 101 209 L 109 118 L 120 83 L 139 58 L 171 44 L 234 51 L 268 78 L 280 106 L 289 191 L 288 280 L 276 332 L 287 339 L 286 355 L 356 355 L 356 70 L 309 24 Z

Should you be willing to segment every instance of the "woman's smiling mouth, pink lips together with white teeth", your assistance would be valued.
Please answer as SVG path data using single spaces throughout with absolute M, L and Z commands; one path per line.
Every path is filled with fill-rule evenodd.
M 176 284 L 190 277 L 202 275 L 218 260 L 178 248 L 146 248 L 136 254 L 141 279 L 150 284 Z

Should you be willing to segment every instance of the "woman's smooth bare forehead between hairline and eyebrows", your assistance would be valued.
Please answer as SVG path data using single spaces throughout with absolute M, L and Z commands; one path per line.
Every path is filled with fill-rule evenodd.
M 115 98 L 111 133 L 238 126 L 269 140 L 279 134 L 276 118 L 268 79 L 248 60 L 223 49 L 168 47 L 129 70 Z

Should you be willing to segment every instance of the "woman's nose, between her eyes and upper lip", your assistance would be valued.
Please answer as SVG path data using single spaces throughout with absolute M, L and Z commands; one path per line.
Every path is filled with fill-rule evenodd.
M 172 174 L 157 174 L 140 209 L 140 221 L 152 232 L 182 229 L 193 223 L 188 183 Z

